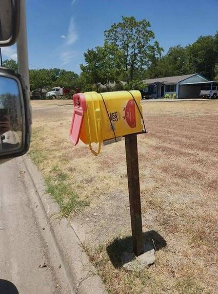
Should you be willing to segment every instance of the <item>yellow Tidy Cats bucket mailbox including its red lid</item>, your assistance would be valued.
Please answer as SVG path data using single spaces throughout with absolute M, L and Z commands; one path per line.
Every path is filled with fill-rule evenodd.
M 140 100 L 137 90 L 74 94 L 70 141 L 76 145 L 80 138 L 97 155 L 103 141 L 142 132 Z M 92 149 L 93 142 L 98 143 L 97 152 Z

